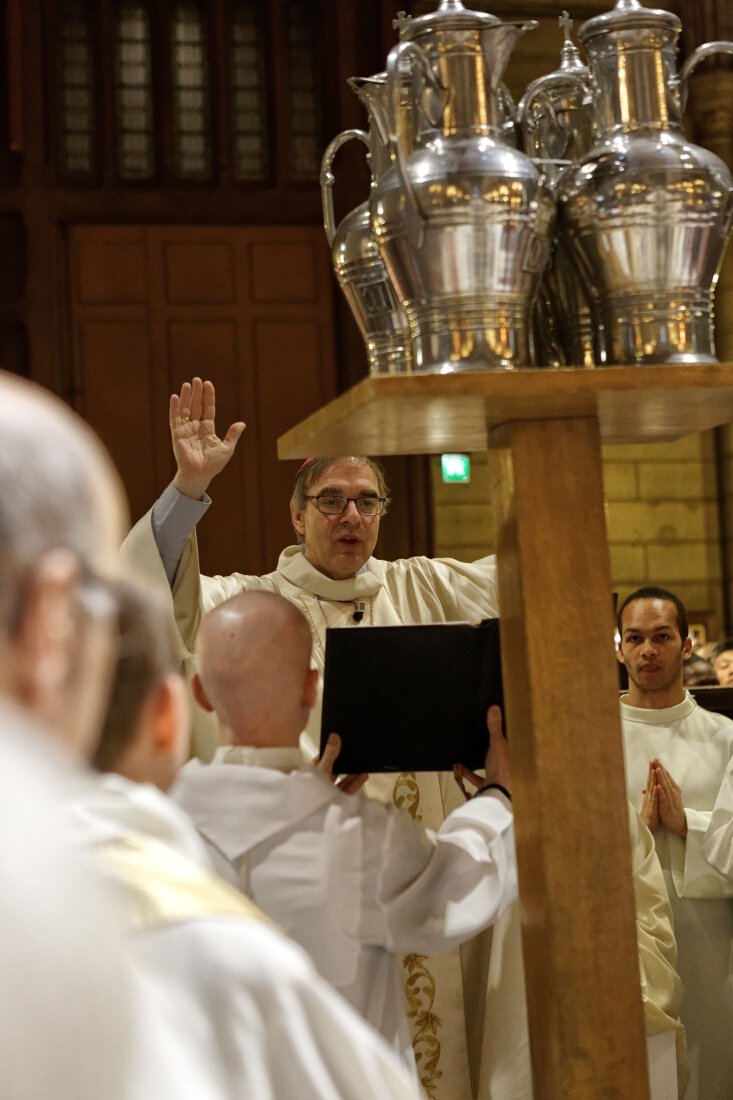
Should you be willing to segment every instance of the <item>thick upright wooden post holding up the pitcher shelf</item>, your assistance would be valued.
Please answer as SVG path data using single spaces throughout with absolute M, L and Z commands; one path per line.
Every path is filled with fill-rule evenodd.
M 599 426 L 491 446 L 535 1098 L 648 1100 Z

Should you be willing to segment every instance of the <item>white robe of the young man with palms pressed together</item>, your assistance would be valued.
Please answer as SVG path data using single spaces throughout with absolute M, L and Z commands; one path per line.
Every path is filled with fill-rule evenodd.
M 733 888 L 704 858 L 703 840 L 733 756 L 733 722 L 698 706 L 647 710 L 621 703 L 628 798 L 637 810 L 655 757 L 680 785 L 685 839 L 655 831 L 682 979 L 681 1020 L 690 1079 L 686 1100 L 733 1097 Z

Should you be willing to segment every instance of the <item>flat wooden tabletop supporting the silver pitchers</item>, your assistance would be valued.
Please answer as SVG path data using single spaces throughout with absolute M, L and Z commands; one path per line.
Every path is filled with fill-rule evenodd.
M 517 420 L 594 417 L 603 443 L 733 422 L 733 363 L 373 375 L 286 431 L 281 459 L 483 451 Z

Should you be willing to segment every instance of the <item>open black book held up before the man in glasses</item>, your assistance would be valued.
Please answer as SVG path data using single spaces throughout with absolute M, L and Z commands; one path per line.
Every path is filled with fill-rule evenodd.
M 326 631 L 321 751 L 340 735 L 339 774 L 482 768 L 492 703 L 499 619 Z

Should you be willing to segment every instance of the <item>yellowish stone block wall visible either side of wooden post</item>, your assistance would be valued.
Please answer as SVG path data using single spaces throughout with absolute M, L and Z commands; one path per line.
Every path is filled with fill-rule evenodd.
M 733 432 L 727 444 L 733 465 Z M 676 592 L 691 613 L 708 617 L 714 632 L 722 630 L 712 433 L 675 443 L 606 447 L 603 472 L 611 575 L 620 600 L 642 584 L 661 584 Z M 437 554 L 471 561 L 495 549 L 496 517 L 485 454 L 472 455 L 468 485 L 444 485 L 435 458 L 433 492 Z M 733 515 L 733 501 L 729 513 Z

